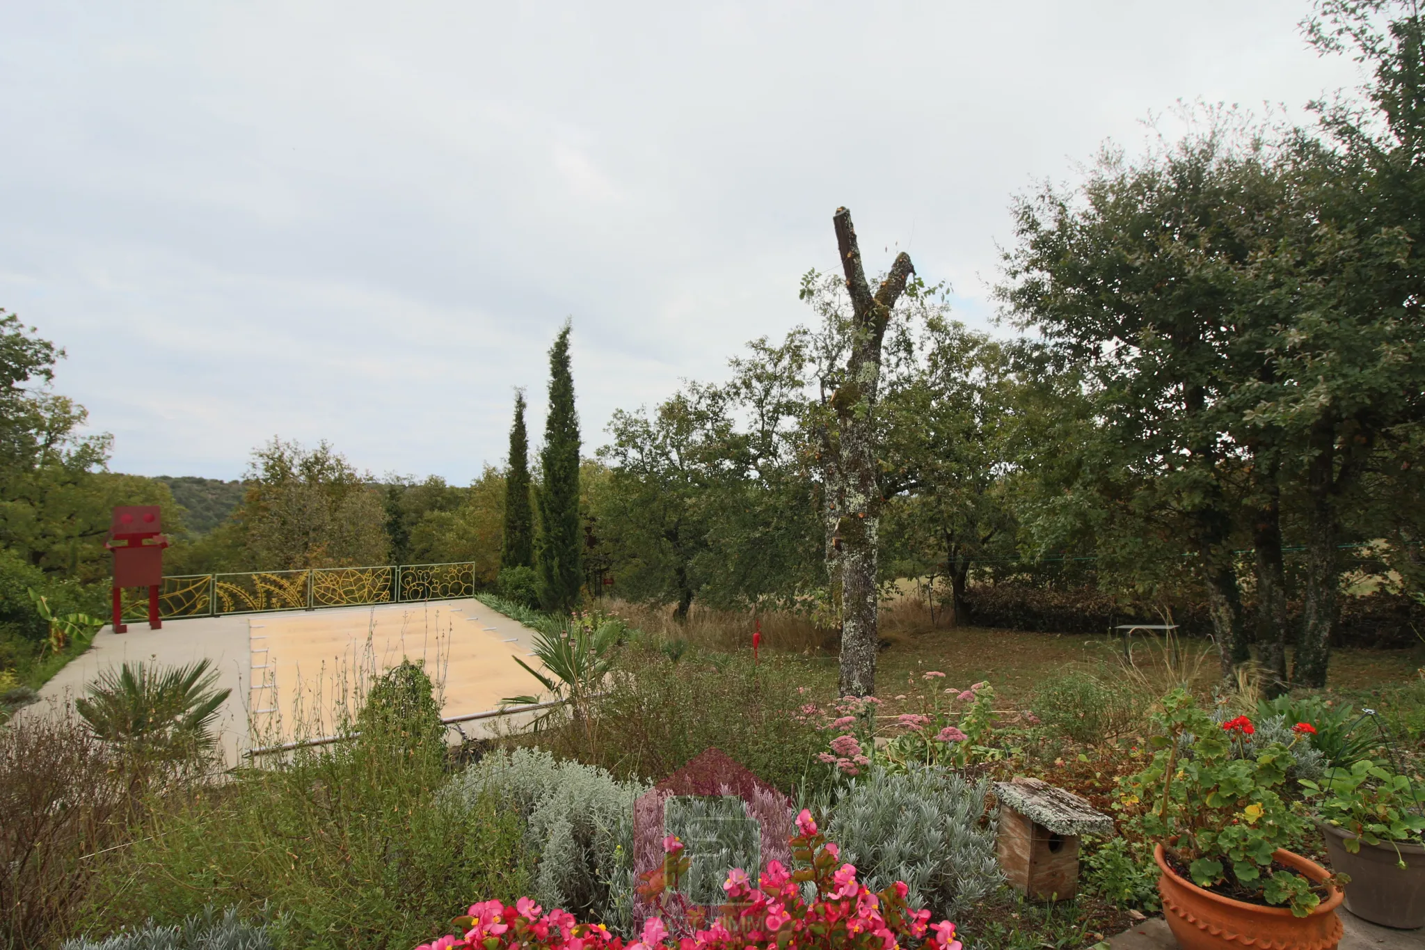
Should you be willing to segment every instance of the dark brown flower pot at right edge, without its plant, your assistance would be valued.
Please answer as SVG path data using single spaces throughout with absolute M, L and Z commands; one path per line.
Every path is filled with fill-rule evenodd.
M 1321 825 L 1327 836 L 1331 867 L 1351 875 L 1345 886 L 1345 909 L 1382 927 L 1415 930 L 1425 927 L 1425 847 L 1401 843 L 1399 855 L 1389 845 L 1367 845 L 1352 855 L 1345 840 L 1355 835 Z M 1399 860 L 1405 860 L 1405 867 Z

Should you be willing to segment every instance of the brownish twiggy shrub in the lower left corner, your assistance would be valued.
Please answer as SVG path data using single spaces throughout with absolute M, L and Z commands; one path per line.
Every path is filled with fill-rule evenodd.
M 0 943 L 53 946 L 100 867 L 127 840 L 128 778 L 71 716 L 0 728 Z

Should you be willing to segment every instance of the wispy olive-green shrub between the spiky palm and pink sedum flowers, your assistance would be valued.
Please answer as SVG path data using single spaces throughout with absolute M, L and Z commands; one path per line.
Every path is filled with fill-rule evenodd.
M 807 687 L 818 668 L 799 657 L 750 655 L 688 648 L 670 659 L 654 642 L 630 638 L 601 696 L 593 699 L 598 724 L 596 756 L 579 752 L 564 735 L 540 745 L 603 765 L 617 778 L 661 779 L 708 748 L 718 748 L 764 782 L 794 793 L 815 765 L 822 745 L 804 722 Z

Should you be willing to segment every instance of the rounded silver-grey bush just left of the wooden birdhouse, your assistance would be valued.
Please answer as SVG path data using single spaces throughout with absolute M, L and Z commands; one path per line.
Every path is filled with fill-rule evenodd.
M 952 917 L 1003 883 L 995 860 L 998 810 L 986 815 L 990 781 L 943 768 L 858 776 L 831 813 L 828 837 L 866 887 L 896 880 L 912 907 Z

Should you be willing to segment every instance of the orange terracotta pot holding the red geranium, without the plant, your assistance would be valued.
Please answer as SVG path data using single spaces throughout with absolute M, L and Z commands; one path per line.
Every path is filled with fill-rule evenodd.
M 1330 876 L 1321 865 L 1288 850 L 1278 850 L 1273 857 L 1311 880 Z M 1159 877 L 1163 917 L 1183 950 L 1335 950 L 1341 941 L 1341 919 L 1335 912 L 1342 897 L 1340 887 L 1332 887 L 1310 914 L 1295 917 L 1287 907 L 1221 897 L 1178 877 L 1163 859 L 1161 845 L 1153 849 L 1153 859 L 1163 872 Z

